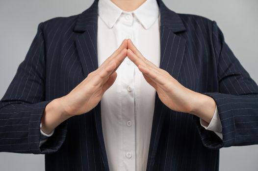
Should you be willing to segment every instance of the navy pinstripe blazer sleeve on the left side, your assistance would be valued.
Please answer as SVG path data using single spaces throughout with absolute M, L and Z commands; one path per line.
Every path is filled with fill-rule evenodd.
M 45 107 L 44 23 L 38 30 L 25 60 L 0 101 L 0 152 L 49 154 L 63 144 L 66 121 L 61 123 L 41 147 L 40 123 Z

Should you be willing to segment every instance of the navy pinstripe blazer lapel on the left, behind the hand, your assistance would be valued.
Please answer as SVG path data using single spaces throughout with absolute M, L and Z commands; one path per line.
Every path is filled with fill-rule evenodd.
M 98 0 L 84 12 L 82 12 L 77 20 L 74 31 L 81 32 L 76 39 L 76 48 L 79 61 L 82 66 L 83 75 L 87 75 L 98 68 L 97 54 L 97 31 L 98 31 Z M 101 120 L 101 103 L 94 109 L 94 117 L 96 122 L 96 131 L 98 134 L 99 144 L 102 152 L 102 161 L 106 171 L 109 171 L 108 161 L 104 146 L 102 120 Z

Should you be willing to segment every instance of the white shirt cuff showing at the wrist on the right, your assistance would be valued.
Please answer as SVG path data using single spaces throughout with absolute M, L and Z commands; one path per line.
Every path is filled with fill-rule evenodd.
M 201 118 L 200 118 L 200 123 L 207 130 L 211 130 L 214 133 L 216 133 L 220 137 L 221 140 L 223 139 L 222 125 L 221 125 L 221 121 L 219 118 L 219 112 L 218 112 L 217 106 L 216 106 L 215 112 L 213 114 L 213 117 L 212 117 L 210 123 L 208 124 L 206 121 L 204 121 Z

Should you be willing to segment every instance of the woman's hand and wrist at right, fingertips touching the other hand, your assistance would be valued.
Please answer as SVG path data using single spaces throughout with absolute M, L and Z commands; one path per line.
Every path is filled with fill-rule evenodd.
M 131 40 L 128 40 L 127 56 L 139 68 L 145 80 L 155 88 L 162 103 L 170 109 L 192 113 L 198 116 L 198 114 L 202 115 L 200 113 L 202 112 L 201 107 L 209 100 L 210 107 L 213 107 L 215 110 L 216 103 L 211 97 L 192 91 L 181 85 L 167 71 L 147 60 Z M 210 113 L 208 117 L 203 118 L 206 122 L 210 121 L 213 117 L 213 113 Z

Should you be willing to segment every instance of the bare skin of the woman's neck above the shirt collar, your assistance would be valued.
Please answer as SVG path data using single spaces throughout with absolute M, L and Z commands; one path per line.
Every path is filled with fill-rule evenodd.
M 123 11 L 134 11 L 137 9 L 143 2 L 146 0 L 111 0 L 114 4 L 116 4 Z

